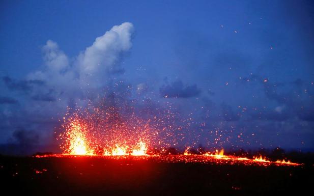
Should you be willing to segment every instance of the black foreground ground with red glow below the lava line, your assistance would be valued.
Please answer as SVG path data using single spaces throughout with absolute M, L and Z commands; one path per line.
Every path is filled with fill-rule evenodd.
M 8 195 L 300 195 L 311 191 L 314 182 L 312 164 L 265 167 L 101 157 L 0 156 L 0 178 L 1 191 Z

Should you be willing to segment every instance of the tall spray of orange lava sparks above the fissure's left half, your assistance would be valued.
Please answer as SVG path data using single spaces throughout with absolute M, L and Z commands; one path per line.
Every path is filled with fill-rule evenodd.
M 93 108 L 93 111 L 76 110 L 64 117 L 64 132 L 58 137 L 63 154 L 144 156 L 147 145 L 153 141 L 150 131 L 158 134 L 145 122 L 136 118 L 124 119 L 115 108 L 107 110 Z M 155 135 L 156 135 L 155 134 Z

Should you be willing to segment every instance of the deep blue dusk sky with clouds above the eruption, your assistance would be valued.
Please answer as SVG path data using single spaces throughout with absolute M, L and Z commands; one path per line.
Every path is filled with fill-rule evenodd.
M 0 23 L 0 153 L 55 151 L 67 107 L 112 95 L 189 119 L 178 148 L 314 150 L 312 1 L 1 1 Z

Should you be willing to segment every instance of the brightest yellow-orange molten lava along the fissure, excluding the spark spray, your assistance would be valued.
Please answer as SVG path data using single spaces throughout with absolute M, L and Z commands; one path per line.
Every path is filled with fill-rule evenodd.
M 87 129 L 84 124 L 78 122 L 77 120 L 73 120 L 67 127 L 68 131 L 65 133 L 67 136 L 66 141 L 68 141 L 67 148 L 64 149 L 64 155 L 88 155 L 88 156 L 150 156 L 147 154 L 148 147 L 145 142 L 142 142 L 142 139 L 136 145 L 128 146 L 128 145 L 118 145 L 116 144 L 113 147 L 106 147 L 103 149 L 102 154 L 94 153 L 91 144 L 87 139 Z M 64 135 L 63 135 L 64 136 Z M 221 163 L 221 161 L 231 161 L 234 162 L 242 162 L 244 164 L 259 164 L 259 165 L 300 165 L 299 163 L 293 163 L 285 160 L 277 160 L 270 161 L 266 157 L 260 155 L 259 157 L 253 157 L 253 159 L 249 159 L 247 157 L 237 157 L 231 155 L 224 155 L 224 150 L 221 149 L 215 150 L 215 153 L 206 152 L 202 155 L 193 155 L 190 151 L 191 147 L 187 147 L 184 151 L 183 155 L 158 155 L 155 154 L 156 157 L 161 157 L 162 161 L 167 162 L 216 162 Z M 43 156 L 38 156 L 43 157 Z M 185 158 L 183 158 L 185 157 Z M 192 157 L 192 158 L 187 158 Z M 202 158 L 204 157 L 204 158 Z M 206 158 L 208 157 L 208 158 Z M 214 160 L 217 161 L 214 161 Z

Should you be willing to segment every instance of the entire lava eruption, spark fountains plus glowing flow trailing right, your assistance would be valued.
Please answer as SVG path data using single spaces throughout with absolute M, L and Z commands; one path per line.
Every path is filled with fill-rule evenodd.
M 191 147 L 187 147 L 183 154 L 166 154 L 165 147 L 161 147 L 159 153 L 153 148 L 151 135 L 159 135 L 160 131 L 154 130 L 149 123 L 139 119 L 125 122 L 117 114 L 100 112 L 89 114 L 82 118 L 78 113 L 64 118 L 63 128 L 65 132 L 59 135 L 62 140 L 60 145 L 63 154 L 36 155 L 35 157 L 80 157 L 98 156 L 106 159 L 138 159 L 153 160 L 157 162 L 185 162 L 185 163 L 216 163 L 216 164 L 244 164 L 244 165 L 291 165 L 298 166 L 285 160 L 271 161 L 262 155 L 259 157 L 239 157 L 225 155 L 224 150 L 206 152 L 204 154 L 191 154 Z M 96 119 L 96 120 L 95 120 Z M 96 121 L 96 123 L 95 123 Z M 150 122 L 150 121 L 149 121 Z M 155 144 L 160 144 L 155 141 Z M 149 148 L 151 145 L 151 148 Z M 149 151 L 154 149 L 154 151 Z M 154 153 L 153 153 L 154 152 Z M 41 173 L 38 171 L 37 173 Z

